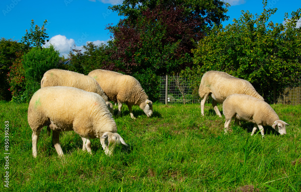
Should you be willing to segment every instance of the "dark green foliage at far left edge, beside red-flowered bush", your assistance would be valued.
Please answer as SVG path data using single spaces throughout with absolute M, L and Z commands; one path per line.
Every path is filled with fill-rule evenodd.
M 0 100 L 10 100 L 9 83 L 7 74 L 19 51 L 24 51 L 25 46 L 13 39 L 1 38 L 0 40 Z

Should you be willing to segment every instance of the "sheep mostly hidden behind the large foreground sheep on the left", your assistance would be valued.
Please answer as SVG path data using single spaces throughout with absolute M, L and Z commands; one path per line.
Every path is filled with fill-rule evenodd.
M 104 98 L 109 111 L 113 114 L 113 104 L 108 101 L 107 95 L 104 94 L 104 91 L 95 81 L 95 79 L 91 78 L 90 76 L 73 71 L 51 69 L 44 73 L 44 76 L 41 80 L 41 88 L 53 86 L 75 87 L 84 91 L 97 93 Z

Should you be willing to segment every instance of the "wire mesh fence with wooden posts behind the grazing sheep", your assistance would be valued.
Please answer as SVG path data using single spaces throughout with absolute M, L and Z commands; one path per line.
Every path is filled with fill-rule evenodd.
M 167 88 L 166 88 L 167 79 Z M 198 86 L 195 86 L 193 79 L 182 78 L 179 76 L 160 77 L 160 103 L 200 103 L 201 98 L 198 94 Z M 167 89 L 167 95 L 166 95 Z M 282 85 L 277 89 L 277 104 L 301 104 L 301 77 L 294 76 L 292 81 Z M 273 103 L 273 89 L 260 93 L 265 101 Z M 167 102 L 166 102 L 167 101 Z M 211 102 L 211 99 L 208 100 Z

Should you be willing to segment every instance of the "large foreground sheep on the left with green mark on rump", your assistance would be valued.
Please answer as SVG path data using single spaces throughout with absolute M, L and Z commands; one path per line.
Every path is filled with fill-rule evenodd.
M 52 142 L 63 156 L 59 135 L 74 131 L 82 137 L 83 150 L 92 153 L 90 139 L 99 138 L 106 155 L 116 145 L 128 146 L 117 133 L 117 126 L 104 99 L 96 93 L 74 87 L 44 87 L 33 94 L 28 107 L 28 124 L 33 131 L 33 156 L 37 156 L 37 141 L 44 126 L 52 130 Z

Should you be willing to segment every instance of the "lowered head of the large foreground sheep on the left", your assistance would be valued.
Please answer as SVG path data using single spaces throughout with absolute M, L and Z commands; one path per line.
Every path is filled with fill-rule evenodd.
M 123 138 L 118 133 L 112 132 L 105 132 L 100 138 L 100 142 L 102 148 L 104 149 L 104 152 L 108 156 L 112 155 L 116 145 L 123 144 L 126 147 L 129 146 L 128 144 L 126 144 L 126 142 L 124 142 Z

